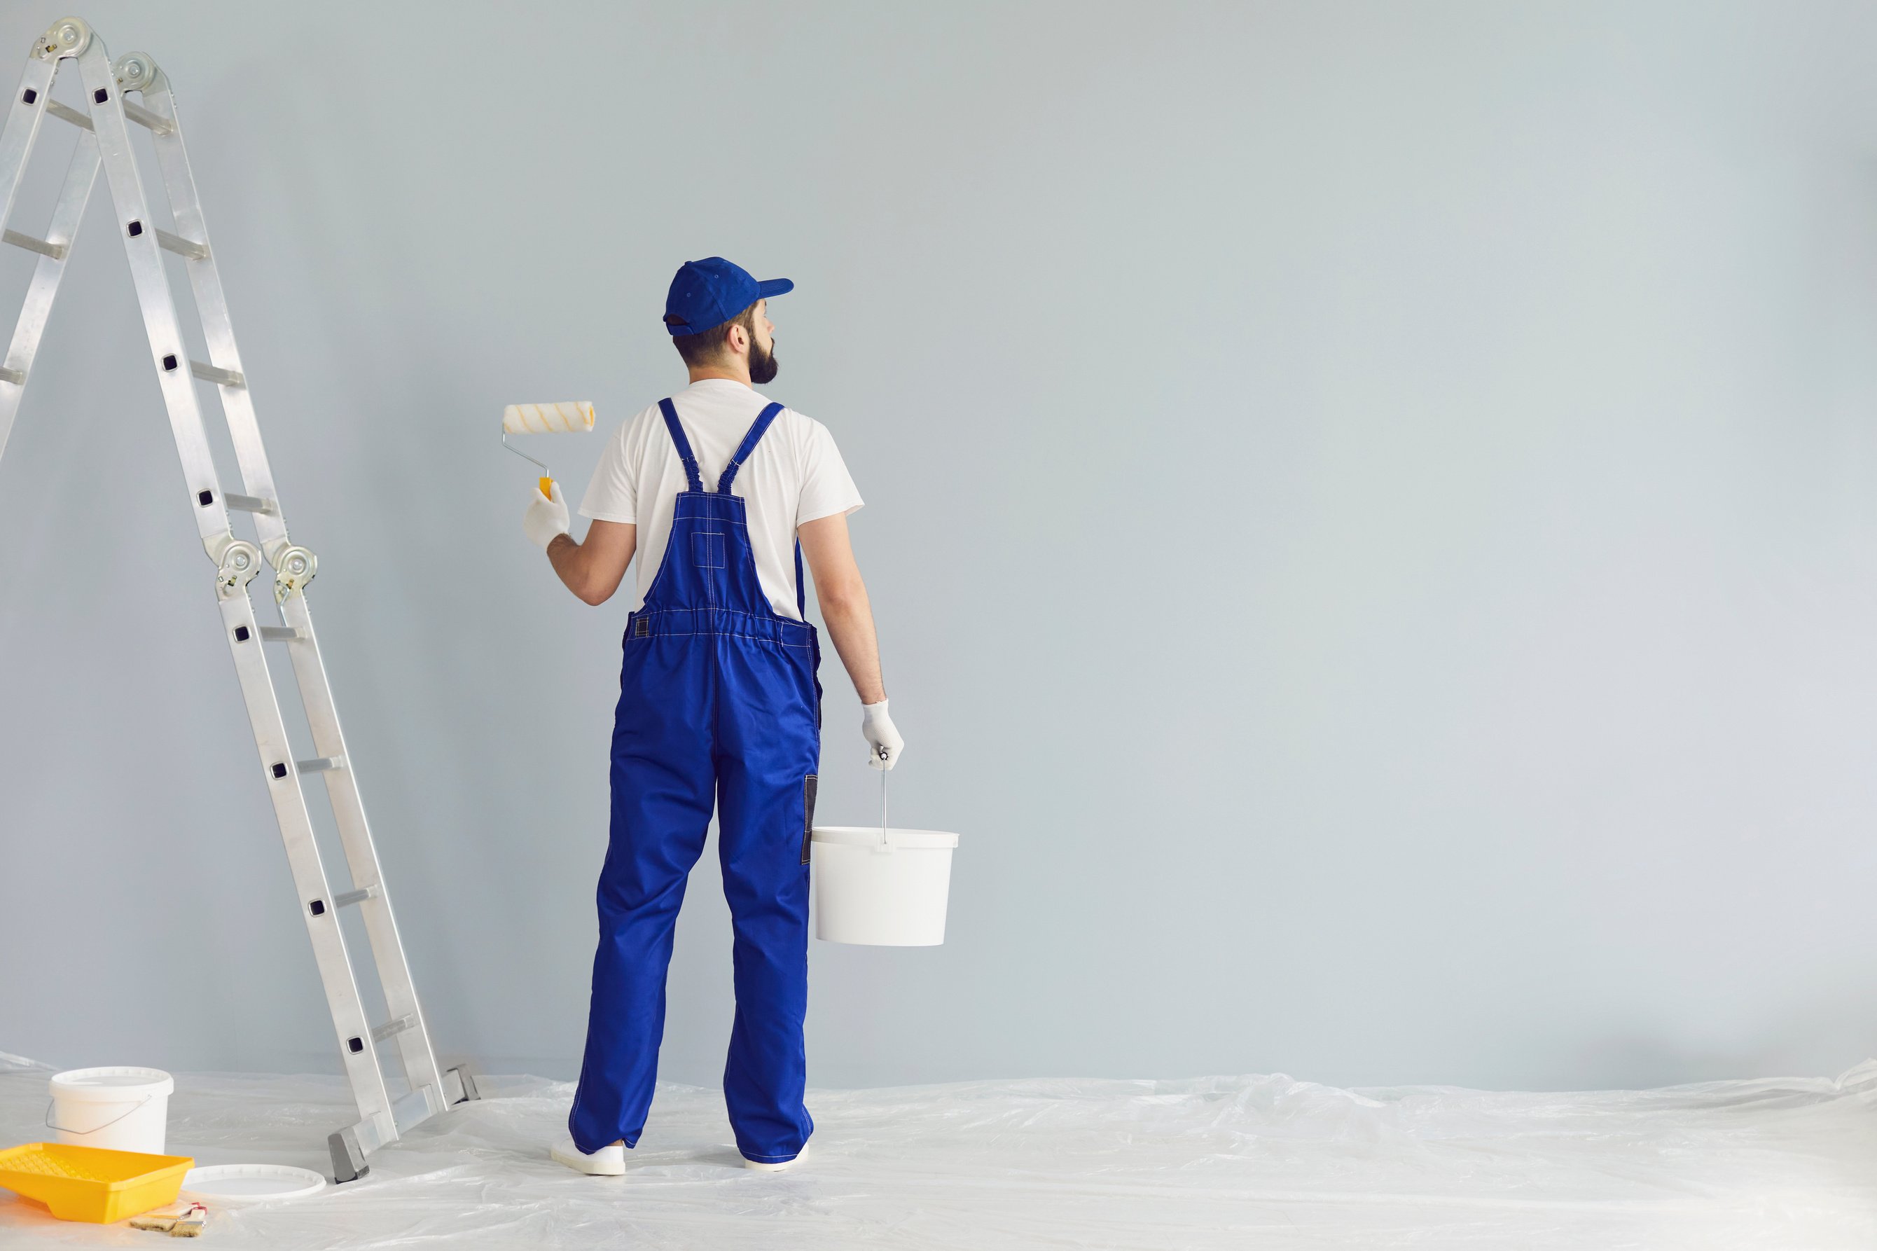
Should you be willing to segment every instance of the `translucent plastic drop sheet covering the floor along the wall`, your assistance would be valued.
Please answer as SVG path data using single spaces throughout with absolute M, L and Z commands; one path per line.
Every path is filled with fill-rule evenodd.
M 0 1146 L 51 1069 L 0 1054 Z M 206 1247 L 1778 1247 L 1877 1245 L 1877 1061 L 1838 1080 L 1648 1091 L 1336 1089 L 1282 1074 L 813 1091 L 786 1174 L 745 1172 L 713 1089 L 661 1086 L 623 1178 L 546 1157 L 567 1082 L 484 1099 L 304 1200 L 212 1212 Z M 169 1150 L 327 1172 L 342 1078 L 176 1074 Z M 145 1247 L 0 1191 L 0 1247 Z

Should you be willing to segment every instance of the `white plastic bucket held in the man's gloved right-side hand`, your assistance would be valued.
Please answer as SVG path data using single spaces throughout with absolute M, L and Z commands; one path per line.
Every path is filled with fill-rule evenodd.
M 937 947 L 952 894 L 957 834 L 818 825 L 813 832 L 815 937 L 869 947 Z

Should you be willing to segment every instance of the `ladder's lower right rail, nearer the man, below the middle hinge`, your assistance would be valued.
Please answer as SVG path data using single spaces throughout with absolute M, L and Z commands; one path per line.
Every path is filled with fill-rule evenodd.
M 366 823 L 364 800 L 359 795 L 359 776 L 345 749 L 345 734 L 340 729 L 338 708 L 332 703 L 332 687 L 327 682 L 325 661 L 319 654 L 319 637 L 313 633 L 312 609 L 306 594 L 297 592 L 280 605 L 282 620 L 300 631 L 300 639 L 287 644 L 293 661 L 293 674 L 300 686 L 300 703 L 306 706 L 306 719 L 313 729 L 313 749 L 323 757 L 340 757 L 345 768 L 328 770 L 327 798 L 332 802 L 332 817 L 340 830 L 340 845 L 345 849 L 345 864 L 351 870 L 355 888 L 375 887 L 375 894 L 359 904 L 360 920 L 372 939 L 372 960 L 377 965 L 379 988 L 385 992 L 385 1007 L 390 1020 L 411 1018 L 411 1027 L 396 1035 L 398 1056 L 404 1059 L 404 1074 L 411 1089 L 428 1089 L 434 1095 L 432 1110 L 449 1106 L 443 1088 L 443 1073 L 437 1069 L 437 1056 L 430 1044 L 430 1027 L 424 1020 L 422 1005 L 417 997 L 417 982 L 411 979 L 411 965 L 404 954 L 404 941 L 398 935 L 398 920 L 390 907 L 390 892 L 385 887 L 377 862 L 377 845 L 372 842 L 372 828 Z

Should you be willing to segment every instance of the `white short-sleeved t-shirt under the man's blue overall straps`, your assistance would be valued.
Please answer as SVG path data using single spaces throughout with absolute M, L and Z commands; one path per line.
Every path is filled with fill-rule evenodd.
M 678 425 L 698 458 L 704 490 L 717 490 L 725 466 L 768 404 L 768 398 L 728 378 L 706 378 L 672 396 Z M 638 526 L 638 597 L 633 612 L 646 605 L 646 592 L 672 537 L 678 492 L 687 488 L 685 462 L 678 458 L 678 445 L 657 404 L 634 413 L 606 440 L 580 515 Z M 745 500 L 749 547 L 756 556 L 762 594 L 779 616 L 801 620 L 796 612 L 796 526 L 852 513 L 863 503 L 828 426 L 785 408 L 736 471 L 730 494 Z

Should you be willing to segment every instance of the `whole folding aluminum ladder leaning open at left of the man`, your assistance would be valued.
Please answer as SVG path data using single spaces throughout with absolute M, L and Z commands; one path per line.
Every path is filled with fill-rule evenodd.
M 77 64 L 84 86 L 84 111 L 53 100 L 53 79 L 68 60 Z M 131 92 L 141 96 L 141 105 L 131 103 L 128 98 Z M 81 131 L 51 225 L 43 235 L 4 229 L 39 124 L 47 116 Z M 175 233 L 158 227 L 150 216 L 130 143 L 133 122 L 146 128 L 154 141 Z M 253 725 L 261 778 L 287 845 L 293 887 L 300 896 L 300 917 L 313 939 L 319 981 L 325 982 L 327 1003 L 332 1007 L 340 1059 L 359 1101 L 359 1123 L 330 1136 L 334 1180 L 351 1182 L 368 1170 L 366 1157 L 372 1151 L 445 1108 L 475 1099 L 475 1078 L 464 1067 L 439 1069 L 430 1046 L 411 969 L 398 941 L 398 924 L 392 920 L 390 896 L 379 873 L 377 849 L 366 826 L 359 781 L 345 751 L 345 738 L 340 734 L 313 618 L 306 607 L 306 584 L 313 579 L 317 560 L 287 537 L 274 473 L 267 464 L 261 428 L 253 417 L 248 376 L 235 348 L 214 248 L 208 244 L 208 227 L 195 193 L 195 175 L 190 173 L 190 158 L 182 147 L 182 124 L 169 79 L 143 53 L 126 53 L 113 62 L 103 39 L 77 17 L 53 23 L 34 39 L 26 71 L 6 116 L 6 130 L 0 131 L 0 229 L 6 244 L 39 254 L 13 329 L 13 342 L 6 361 L 0 363 L 0 455 L 6 453 L 8 434 L 32 374 L 32 359 L 39 349 L 71 239 L 84 216 L 99 165 L 111 186 L 124 252 L 130 255 L 130 272 L 137 286 L 137 302 L 143 306 L 143 323 L 150 336 L 156 379 L 182 458 L 188 507 L 195 515 L 203 548 L 216 565 L 221 631 L 227 637 L 229 656 L 235 657 L 235 674 L 240 678 L 248 719 Z M 190 274 L 195 312 L 208 344 L 206 363 L 188 359 L 163 252 L 182 257 Z M 216 477 L 195 393 L 197 379 L 214 383 L 221 396 L 244 494 L 223 492 Z M 253 517 L 259 543 L 235 537 L 229 528 L 231 509 Z M 263 560 L 274 569 L 274 603 L 282 620 L 278 626 L 259 624 L 248 597 L 248 582 L 261 571 Z M 263 652 L 265 642 L 282 642 L 287 648 L 287 661 L 293 665 L 300 703 L 312 725 L 317 751 L 313 759 L 293 759 Z M 312 774 L 323 778 L 327 785 L 351 872 L 347 890 L 332 888 L 313 842 L 312 813 L 302 791 L 302 778 Z M 340 930 L 340 911 L 347 907 L 359 909 L 377 965 L 377 981 L 389 1009 L 389 1020 L 379 1024 L 366 1014 L 345 935 Z M 404 1095 L 392 1093 L 379 1063 L 377 1044 L 387 1041 L 394 1042 L 404 1063 L 409 1088 Z

